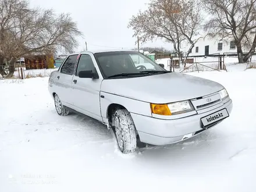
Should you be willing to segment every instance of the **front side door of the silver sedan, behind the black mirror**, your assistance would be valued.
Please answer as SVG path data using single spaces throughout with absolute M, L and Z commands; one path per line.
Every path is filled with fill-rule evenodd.
M 102 121 L 99 104 L 99 92 L 103 77 L 98 70 L 94 55 L 91 53 L 80 55 L 76 72 L 72 81 L 72 97 L 76 111 Z M 97 68 L 97 69 L 96 69 Z M 80 78 L 78 74 L 81 70 L 92 70 L 98 73 L 99 79 Z

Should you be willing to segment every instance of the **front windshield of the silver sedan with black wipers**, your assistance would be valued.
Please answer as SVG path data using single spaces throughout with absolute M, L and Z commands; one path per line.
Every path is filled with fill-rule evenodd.
M 105 79 L 148 76 L 168 72 L 140 52 L 102 52 L 94 55 Z

